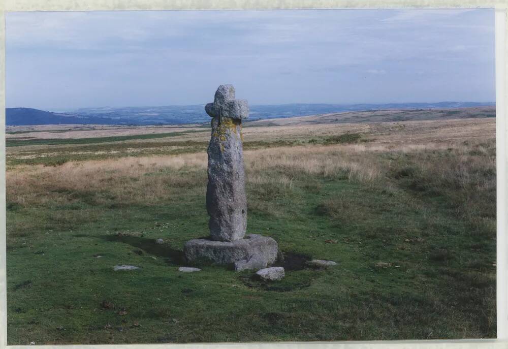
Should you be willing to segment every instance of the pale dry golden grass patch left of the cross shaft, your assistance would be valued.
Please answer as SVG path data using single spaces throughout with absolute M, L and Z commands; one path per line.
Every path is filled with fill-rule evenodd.
M 193 176 L 182 176 L 179 173 L 182 168 L 194 170 L 190 171 Z M 160 171 L 165 171 L 164 176 L 145 176 Z M 206 154 L 125 157 L 70 162 L 58 167 L 25 166 L 15 172 L 7 171 L 7 188 L 10 199 L 21 205 L 72 202 L 70 192 L 93 193 L 99 202 L 157 201 L 171 198 L 172 187 L 195 184 L 198 179 L 204 184 L 203 171 L 206 171 Z M 101 195 L 104 193 L 108 196 Z

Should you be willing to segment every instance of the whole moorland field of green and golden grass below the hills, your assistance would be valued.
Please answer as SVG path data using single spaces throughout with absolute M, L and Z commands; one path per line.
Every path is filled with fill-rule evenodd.
M 246 127 L 272 283 L 177 270 L 208 234 L 209 129 L 55 130 L 7 139 L 9 344 L 496 336 L 494 118 Z

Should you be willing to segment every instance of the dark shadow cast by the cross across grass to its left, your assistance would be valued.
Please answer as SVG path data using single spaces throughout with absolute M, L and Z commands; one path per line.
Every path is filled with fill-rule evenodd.
M 140 250 L 164 258 L 169 264 L 180 265 L 184 262 L 183 252 L 167 244 L 157 244 L 154 239 L 131 235 L 101 235 L 99 238 L 110 242 L 121 242 Z

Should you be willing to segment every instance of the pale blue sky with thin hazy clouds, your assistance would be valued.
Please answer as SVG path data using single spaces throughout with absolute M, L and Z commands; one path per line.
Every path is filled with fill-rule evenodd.
M 494 11 L 8 12 L 6 104 L 494 102 Z

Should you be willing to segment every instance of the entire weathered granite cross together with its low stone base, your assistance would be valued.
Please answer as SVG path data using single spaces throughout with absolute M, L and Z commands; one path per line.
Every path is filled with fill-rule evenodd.
M 211 239 L 192 239 L 183 246 L 189 263 L 233 264 L 236 271 L 259 270 L 272 265 L 277 241 L 268 236 L 245 235 L 247 199 L 243 169 L 242 120 L 249 113 L 247 101 L 235 100 L 235 89 L 221 85 L 205 110 L 212 117 L 208 145 L 206 209 Z

